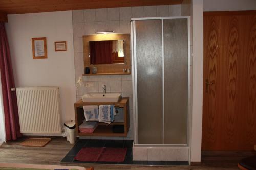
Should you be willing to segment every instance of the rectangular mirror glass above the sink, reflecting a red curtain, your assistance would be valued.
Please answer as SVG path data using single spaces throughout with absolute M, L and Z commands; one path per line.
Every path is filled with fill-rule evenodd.
M 124 40 L 89 41 L 90 64 L 124 64 Z

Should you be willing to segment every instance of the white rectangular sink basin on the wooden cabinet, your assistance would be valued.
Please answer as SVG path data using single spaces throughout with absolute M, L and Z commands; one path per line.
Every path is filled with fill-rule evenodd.
M 89 93 L 82 96 L 83 102 L 118 102 L 120 93 Z

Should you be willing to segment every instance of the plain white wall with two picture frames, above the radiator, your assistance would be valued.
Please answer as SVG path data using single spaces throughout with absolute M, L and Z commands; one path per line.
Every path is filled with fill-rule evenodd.
M 58 86 L 62 121 L 74 119 L 76 102 L 72 12 L 8 15 L 6 30 L 16 87 Z M 33 59 L 31 38 L 47 37 L 47 59 Z M 67 41 L 55 52 L 54 41 Z

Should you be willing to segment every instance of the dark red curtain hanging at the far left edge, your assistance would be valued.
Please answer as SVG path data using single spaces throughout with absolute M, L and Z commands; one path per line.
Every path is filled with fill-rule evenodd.
M 22 134 L 19 128 L 16 91 L 11 91 L 11 88 L 14 88 L 15 85 L 10 50 L 3 22 L 0 22 L 0 73 L 3 91 L 6 141 L 16 140 L 18 137 L 21 137 Z

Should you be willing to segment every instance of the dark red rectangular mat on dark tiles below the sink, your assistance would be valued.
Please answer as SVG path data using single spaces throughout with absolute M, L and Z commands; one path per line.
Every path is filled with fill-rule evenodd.
M 127 148 L 82 148 L 75 160 L 87 162 L 123 162 Z

